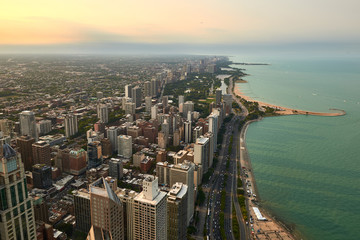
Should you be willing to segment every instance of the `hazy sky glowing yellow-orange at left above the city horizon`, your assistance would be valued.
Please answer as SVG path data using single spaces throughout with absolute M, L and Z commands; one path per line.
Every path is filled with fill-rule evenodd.
M 358 0 L 0 0 L 0 53 L 130 45 L 357 47 L 358 9 Z

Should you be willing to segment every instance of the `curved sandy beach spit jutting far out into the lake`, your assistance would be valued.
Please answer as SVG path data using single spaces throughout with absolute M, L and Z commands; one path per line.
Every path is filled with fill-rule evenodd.
M 236 96 L 239 96 L 240 98 L 245 99 L 246 101 L 257 102 L 259 104 L 259 106 L 261 106 L 261 107 L 274 108 L 274 109 L 277 110 L 276 113 L 279 114 L 279 115 L 312 115 L 312 116 L 327 116 L 327 117 L 336 117 L 336 116 L 344 116 L 344 115 L 346 115 L 346 112 L 344 110 L 342 110 L 342 109 L 330 108 L 329 110 L 338 111 L 338 112 L 327 112 L 327 113 L 326 112 L 304 111 L 304 110 L 287 108 L 287 107 L 282 107 L 282 106 L 278 106 L 278 105 L 274 105 L 274 104 L 254 100 L 251 97 L 246 96 L 236 86 L 234 86 L 233 92 L 234 92 L 234 94 Z

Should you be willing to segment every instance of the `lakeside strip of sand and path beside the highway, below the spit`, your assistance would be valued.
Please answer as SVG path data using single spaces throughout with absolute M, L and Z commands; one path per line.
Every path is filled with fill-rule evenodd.
M 266 209 L 261 204 L 261 198 L 259 197 L 260 194 L 256 185 L 255 176 L 253 174 L 251 159 L 246 147 L 246 133 L 248 127 L 250 126 L 251 123 L 258 122 L 261 120 L 262 118 L 247 122 L 240 132 L 240 149 L 241 149 L 240 151 L 243 152 L 243 154 L 240 156 L 241 171 L 243 171 L 245 167 L 247 174 L 249 176 L 247 179 L 250 179 L 252 185 L 252 187 L 250 188 L 256 194 L 256 203 L 251 201 L 251 199 L 253 199 L 252 197 L 250 198 L 247 197 L 248 211 L 249 214 L 252 215 L 254 219 L 254 224 L 253 224 L 255 229 L 254 239 L 258 239 L 257 235 L 263 235 L 264 237 L 267 236 L 270 237 L 270 239 L 288 239 L 288 240 L 303 239 L 303 237 L 300 235 L 299 232 L 296 231 L 296 229 L 292 229 L 289 226 L 289 224 L 286 224 L 286 222 L 278 219 L 278 217 L 275 214 L 272 214 L 271 211 Z M 243 176 L 243 174 L 241 175 Z M 247 179 L 244 178 L 245 181 Z M 245 185 L 247 184 L 245 183 Z M 267 221 L 256 220 L 256 215 L 254 214 L 252 207 L 258 207 L 262 215 L 267 218 Z M 260 230 L 260 232 L 257 232 L 258 230 Z

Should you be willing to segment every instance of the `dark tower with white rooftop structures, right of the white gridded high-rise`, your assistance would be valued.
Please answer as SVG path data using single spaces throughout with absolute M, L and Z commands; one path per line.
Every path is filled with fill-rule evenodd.
M 183 183 L 175 183 L 167 194 L 167 223 L 168 238 L 187 239 L 188 186 Z

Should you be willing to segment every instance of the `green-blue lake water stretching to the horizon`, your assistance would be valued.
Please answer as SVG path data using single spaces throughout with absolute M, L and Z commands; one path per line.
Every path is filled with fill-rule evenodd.
M 246 144 L 263 206 L 305 239 L 360 239 L 360 58 L 232 57 L 246 95 L 341 117 L 281 116 L 250 125 Z

